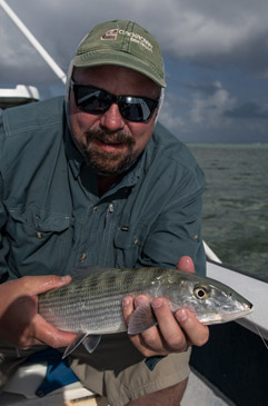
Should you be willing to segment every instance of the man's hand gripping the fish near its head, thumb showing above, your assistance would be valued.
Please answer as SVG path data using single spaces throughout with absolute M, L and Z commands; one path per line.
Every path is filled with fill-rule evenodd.
M 195 266 L 190 257 L 181 257 L 177 269 L 187 273 L 195 273 Z M 149 299 L 146 296 L 138 296 L 123 299 L 123 317 L 126 325 L 141 301 Z M 202 346 L 209 337 L 209 329 L 197 320 L 195 315 L 183 308 L 178 309 L 175 315 L 171 313 L 166 298 L 159 297 L 151 303 L 158 326 L 130 336 L 132 344 L 145 357 L 155 355 L 168 355 L 170 353 L 185 351 L 189 346 Z

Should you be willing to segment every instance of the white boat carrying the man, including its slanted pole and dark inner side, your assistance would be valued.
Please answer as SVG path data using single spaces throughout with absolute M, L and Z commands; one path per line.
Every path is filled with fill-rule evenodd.
M 0 0 L 0 6 L 4 6 L 6 11 L 9 9 L 3 0 Z M 18 22 L 12 10 L 7 12 L 12 16 L 20 29 L 22 27 L 21 30 L 27 32 L 28 39 L 36 47 L 34 38 L 32 39 L 32 34 L 23 28 L 20 20 Z M 51 58 L 46 50 L 39 46 L 37 49 L 50 65 Z M 54 61 L 52 62 L 51 69 L 64 82 L 64 73 L 57 69 Z M 19 105 L 37 100 L 38 95 L 31 89 L 23 101 L 21 90 L 22 88 L 18 87 L 8 96 L 6 89 L 6 102 L 3 92 L 1 97 L 0 91 L 1 108 L 14 106 L 16 102 Z M 254 313 L 244 319 L 210 326 L 209 341 L 200 348 L 192 348 L 191 374 L 181 406 L 265 406 L 268 399 L 268 284 L 246 271 L 222 264 L 207 244 L 204 245 L 207 275 L 238 290 L 254 304 Z M 43 385 L 48 367 L 46 358 L 22 365 L 0 393 L 0 404 L 3 406 L 108 405 L 105 397 L 85 388 L 73 376 L 66 380 L 68 385 L 54 386 L 53 382 L 51 387 Z M 66 374 L 66 369 L 63 373 Z M 61 374 L 62 369 L 59 375 Z

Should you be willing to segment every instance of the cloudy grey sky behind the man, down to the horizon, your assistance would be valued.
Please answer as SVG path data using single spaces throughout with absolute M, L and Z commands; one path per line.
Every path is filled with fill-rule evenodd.
M 158 39 L 168 88 L 160 121 L 187 142 L 268 142 L 267 0 L 6 0 L 67 71 L 98 22 L 130 19 Z M 0 87 L 64 89 L 0 8 Z

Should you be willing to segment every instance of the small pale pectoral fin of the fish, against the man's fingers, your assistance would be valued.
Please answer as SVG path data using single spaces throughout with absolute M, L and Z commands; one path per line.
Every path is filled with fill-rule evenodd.
M 155 326 L 156 324 L 157 320 L 155 318 L 150 304 L 143 301 L 135 309 L 130 318 L 128 334 L 140 334 L 148 328 Z

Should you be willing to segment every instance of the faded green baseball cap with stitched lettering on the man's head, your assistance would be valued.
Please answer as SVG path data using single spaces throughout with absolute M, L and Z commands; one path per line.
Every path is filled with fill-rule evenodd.
M 157 40 L 132 21 L 96 26 L 80 42 L 72 63 L 77 68 L 117 65 L 133 69 L 165 88 L 165 68 Z

